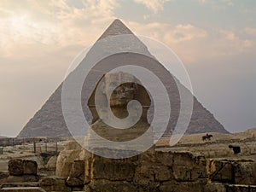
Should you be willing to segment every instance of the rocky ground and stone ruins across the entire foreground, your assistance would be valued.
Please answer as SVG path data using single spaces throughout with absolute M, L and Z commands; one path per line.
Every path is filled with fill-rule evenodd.
M 234 134 L 208 134 L 213 136 L 211 141 L 202 141 L 206 134 L 185 135 L 174 146 L 169 145 L 170 138 L 162 138 L 155 151 L 125 161 L 84 154 L 74 141 L 58 142 L 57 148 L 56 143 L 37 143 L 36 153 L 33 143 L 7 146 L 0 154 L 0 184 L 3 189 L 31 187 L 60 192 L 103 191 L 98 190 L 99 185 L 105 192 L 106 183 L 108 191 L 117 186 L 137 191 L 149 186 L 147 182 L 153 184 L 152 189 L 163 192 L 256 191 L 256 128 Z M 239 152 L 235 154 L 234 148 Z M 84 167 L 90 167 L 89 175 Z M 177 189 L 172 189 L 173 184 Z

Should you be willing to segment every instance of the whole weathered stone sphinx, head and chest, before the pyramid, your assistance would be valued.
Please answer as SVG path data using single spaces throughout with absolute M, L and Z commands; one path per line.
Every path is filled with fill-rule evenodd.
M 141 111 L 136 106 L 131 106 L 129 113 L 127 106 L 131 101 L 139 102 Z M 92 121 L 86 137 L 89 148 L 108 148 L 109 141 L 125 144 L 143 134 L 143 142 L 137 146 L 127 145 L 125 149 L 133 150 L 134 148 L 139 149 L 140 146 L 143 148 L 148 144 L 153 145 L 153 129 L 148 124 L 147 118 L 148 108 L 151 104 L 150 96 L 139 80 L 131 74 L 118 72 L 103 75 L 96 84 L 87 104 L 92 114 Z M 96 108 L 96 104 L 100 107 Z M 111 110 L 108 110 L 108 107 Z M 113 116 L 119 120 L 127 119 L 129 116 L 131 121 L 136 119 L 136 122 L 131 127 L 125 127 L 123 124 L 124 127 L 116 128 L 106 123 L 111 123 Z M 116 148 L 119 149 L 118 145 Z

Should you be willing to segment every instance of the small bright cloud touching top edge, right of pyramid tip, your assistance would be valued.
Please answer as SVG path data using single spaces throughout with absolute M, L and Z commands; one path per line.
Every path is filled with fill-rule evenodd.
M 134 0 L 135 3 L 140 3 L 146 6 L 149 10 L 153 11 L 154 14 L 160 12 L 164 9 L 164 4 L 170 2 L 171 0 Z

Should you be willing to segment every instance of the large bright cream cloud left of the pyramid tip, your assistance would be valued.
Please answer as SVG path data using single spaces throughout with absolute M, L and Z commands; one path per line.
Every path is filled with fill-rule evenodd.
M 1 2 L 0 55 L 13 56 L 19 44 L 65 47 L 92 44 L 115 17 L 114 0 L 80 1 L 79 8 L 67 1 Z M 3 11 L 4 10 L 4 11 Z M 85 24 L 85 25 L 84 25 Z M 85 35 L 86 34 L 86 35 Z

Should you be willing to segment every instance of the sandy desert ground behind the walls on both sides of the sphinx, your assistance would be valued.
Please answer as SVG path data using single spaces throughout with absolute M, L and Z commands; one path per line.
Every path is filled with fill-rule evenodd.
M 239 133 L 223 134 L 217 132 L 209 132 L 213 137 L 211 141 L 202 141 L 202 137 L 206 133 L 184 135 L 179 142 L 170 146 L 170 138 L 161 138 L 156 143 L 157 150 L 163 151 L 189 151 L 195 154 L 203 154 L 207 158 L 245 158 L 256 160 L 256 128 Z M 60 152 L 68 141 L 61 141 L 57 143 L 57 152 Z M 241 153 L 234 154 L 229 145 L 239 146 Z M 37 143 L 37 153 L 34 153 L 33 143 L 24 143 L 21 145 L 2 147 L 3 154 L 0 154 L 0 172 L 8 172 L 8 161 L 12 159 L 26 159 L 36 160 L 38 162 L 39 170 L 44 170 L 49 167 L 49 164 L 54 163 L 54 158 L 51 162 L 50 157 L 55 156 L 56 143 L 44 142 Z M 50 154 L 45 158 L 42 154 Z M 53 160 L 54 159 L 54 160 Z M 54 165 L 52 165 L 54 166 Z

